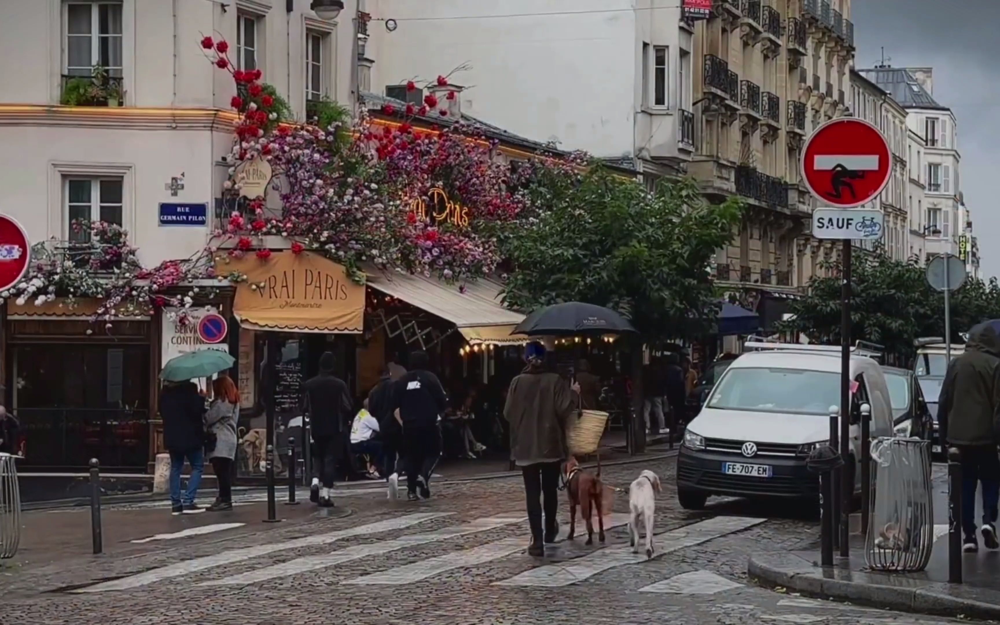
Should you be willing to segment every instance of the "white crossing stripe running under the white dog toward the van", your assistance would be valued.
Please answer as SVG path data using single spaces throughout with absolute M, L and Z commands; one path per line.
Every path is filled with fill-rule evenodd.
M 765 520 L 748 517 L 715 517 L 700 523 L 664 532 L 657 535 L 654 540 L 656 548 L 654 557 L 671 553 L 678 549 L 684 549 L 685 547 L 693 547 L 713 538 L 753 527 L 754 525 L 763 523 Z M 494 585 L 569 586 L 570 584 L 593 577 L 602 571 L 622 566 L 623 564 L 635 564 L 644 560 L 646 560 L 644 553 L 632 553 L 632 548 L 627 545 L 624 547 L 608 547 L 572 562 L 550 564 L 531 569 L 510 579 L 494 582 Z

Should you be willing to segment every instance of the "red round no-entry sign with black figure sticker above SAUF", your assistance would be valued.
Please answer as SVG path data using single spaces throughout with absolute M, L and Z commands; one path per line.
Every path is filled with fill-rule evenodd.
M 862 119 L 831 119 L 813 131 L 802 150 L 802 178 L 825 206 L 852 208 L 870 202 L 891 173 L 889 142 Z

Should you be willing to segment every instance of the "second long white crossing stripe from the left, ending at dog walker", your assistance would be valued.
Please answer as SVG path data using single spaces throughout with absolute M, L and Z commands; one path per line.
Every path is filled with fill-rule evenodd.
M 367 556 L 380 555 L 390 551 L 396 551 L 398 549 L 423 545 L 425 543 L 445 540 L 447 538 L 455 538 L 466 534 L 484 532 L 502 527 L 504 525 L 510 525 L 512 523 L 522 523 L 525 520 L 526 517 L 489 517 L 485 519 L 476 519 L 466 523 L 465 525 L 445 527 L 433 532 L 427 532 L 425 534 L 410 534 L 407 536 L 400 536 L 399 538 L 394 538 L 392 540 L 383 540 L 376 543 L 369 543 L 367 545 L 356 545 L 354 547 L 348 547 L 347 549 L 341 549 L 340 551 L 334 551 L 333 553 L 296 558 L 295 560 L 289 560 L 288 562 L 282 562 L 281 564 L 265 567 L 263 569 L 247 571 L 246 573 L 241 573 L 239 575 L 232 575 L 223 579 L 204 582 L 199 584 L 199 586 L 236 586 L 262 582 L 276 577 L 297 575 L 299 573 L 315 571 L 316 569 L 324 569 L 335 564 L 350 562 L 351 560 L 359 560 Z

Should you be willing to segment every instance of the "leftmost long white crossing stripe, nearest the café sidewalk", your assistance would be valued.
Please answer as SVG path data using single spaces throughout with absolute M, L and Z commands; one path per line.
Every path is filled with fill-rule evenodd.
M 411 525 L 416 525 L 417 523 L 423 523 L 424 521 L 429 521 L 431 519 L 437 519 L 440 517 L 449 516 L 451 514 L 452 514 L 451 512 L 424 512 L 417 514 L 407 514 L 405 516 L 386 519 L 384 521 L 377 521 L 375 523 L 368 523 L 366 525 L 359 525 L 357 527 L 351 527 L 336 532 L 329 532 L 327 534 L 317 534 L 316 536 L 305 536 L 303 538 L 295 538 L 283 542 L 271 543 L 269 545 L 257 545 L 255 547 L 231 549 L 229 551 L 223 551 L 221 553 L 217 553 L 211 556 L 204 556 L 201 558 L 194 558 L 192 560 L 185 560 L 183 562 L 178 562 L 177 564 L 171 564 L 158 569 L 152 569 L 144 573 L 129 575 L 128 577 L 123 577 L 121 579 L 101 582 L 100 584 L 95 584 L 93 586 L 88 586 L 86 588 L 78 588 L 71 592 L 90 593 L 90 592 L 106 592 L 109 590 L 127 590 L 129 588 L 136 588 L 139 586 L 145 586 L 146 584 L 152 584 L 153 582 L 158 582 L 160 580 L 170 579 L 171 577 L 178 577 L 180 575 L 187 575 L 189 573 L 194 573 L 196 571 L 203 571 L 205 569 L 210 569 L 215 566 L 232 564 L 234 562 L 242 562 L 244 560 L 257 558 L 260 556 L 267 555 L 269 553 L 274 553 L 276 551 L 328 545 L 338 540 L 343 540 L 344 538 L 403 529 L 406 527 L 410 527 Z

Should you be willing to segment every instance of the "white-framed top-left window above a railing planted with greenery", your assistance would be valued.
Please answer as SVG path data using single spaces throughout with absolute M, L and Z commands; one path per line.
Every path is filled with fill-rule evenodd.
M 66 73 L 90 76 L 100 66 L 109 76 L 121 76 L 121 2 L 68 2 L 64 6 Z

